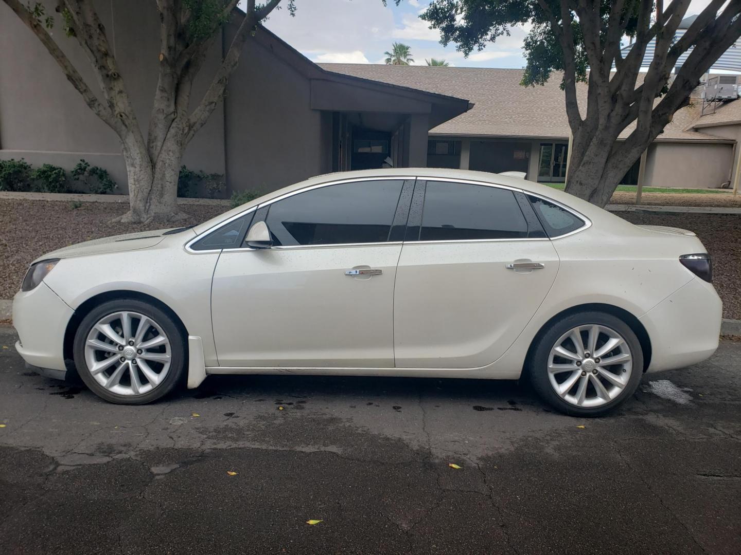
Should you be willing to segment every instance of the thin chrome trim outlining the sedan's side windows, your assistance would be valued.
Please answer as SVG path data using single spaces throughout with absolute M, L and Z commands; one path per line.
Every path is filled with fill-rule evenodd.
M 432 177 L 429 175 L 388 175 L 383 177 L 368 177 L 368 178 L 345 178 L 345 179 L 338 179 L 335 181 L 327 181 L 326 183 L 319 183 L 314 185 L 306 186 L 302 189 L 296 189 L 296 191 L 287 192 L 284 195 L 280 195 L 276 198 L 271 198 L 269 201 L 265 201 L 263 203 L 257 204 L 256 206 L 252 206 L 249 209 L 246 209 L 244 212 L 239 212 L 239 214 L 233 215 L 231 218 L 228 218 L 225 221 L 216 223 L 215 225 L 211 226 L 210 228 L 206 229 L 204 232 L 199 233 L 199 235 L 196 235 L 195 238 L 190 239 L 185 243 L 185 250 L 187 252 L 190 252 L 190 254 L 193 255 L 201 255 L 201 254 L 210 254 L 213 252 L 222 252 L 222 251 L 236 251 L 236 252 L 245 252 L 245 251 L 256 251 L 256 250 L 262 250 L 262 249 L 252 249 L 250 247 L 237 247 L 236 249 L 207 249 L 207 250 L 194 250 L 191 249 L 190 246 L 193 243 L 196 243 L 197 240 L 205 237 L 211 232 L 216 231 L 216 229 L 219 229 L 222 226 L 227 225 L 227 223 L 230 223 L 238 218 L 242 218 L 242 216 L 249 214 L 250 212 L 256 212 L 257 210 L 263 208 L 264 206 L 269 206 L 270 204 L 282 201 L 285 198 L 292 197 L 293 195 L 299 195 L 302 192 L 308 192 L 312 191 L 313 189 L 320 189 L 322 187 L 328 187 L 332 185 L 342 185 L 345 183 L 356 183 L 358 181 L 393 181 L 393 180 L 405 180 L 405 179 L 414 179 L 414 180 L 420 180 L 420 181 L 442 181 L 447 183 L 462 183 L 462 184 L 468 184 L 468 185 L 482 185 L 482 186 L 488 186 L 488 187 L 496 187 L 498 189 L 506 189 L 508 191 L 513 192 L 522 192 L 524 195 L 532 195 L 537 198 L 542 198 L 544 201 L 548 201 L 551 203 L 554 203 L 556 206 L 561 207 L 562 209 L 565 209 L 567 212 L 571 212 L 571 214 L 575 215 L 580 220 L 584 221 L 584 225 L 582 227 L 579 227 L 579 229 L 574 229 L 572 232 L 565 233 L 564 235 L 557 235 L 556 237 L 551 238 L 511 238 L 511 239 L 465 239 L 465 240 L 435 240 L 435 241 L 392 241 L 392 242 L 379 242 L 379 243 L 331 243 L 327 245 L 290 245 L 290 246 L 273 246 L 273 249 L 283 249 L 283 250 L 289 250 L 289 249 L 318 249 L 318 248 L 328 248 L 328 247 L 338 247 L 338 246 L 374 246 L 374 245 L 398 245 L 398 244 L 436 244 L 436 243 L 501 243 L 502 241 L 542 241 L 542 240 L 554 240 L 554 239 L 561 239 L 564 237 L 568 237 L 569 235 L 574 235 L 575 233 L 579 233 L 584 231 L 585 229 L 588 229 L 592 225 L 592 221 L 587 218 L 585 215 L 583 215 L 581 212 L 576 211 L 575 209 L 571 208 L 570 206 L 566 206 L 565 204 L 560 203 L 559 201 L 555 201 L 553 198 L 547 197 L 545 195 L 540 195 L 539 193 L 528 191 L 527 189 L 522 189 L 519 187 L 514 187 L 510 185 L 503 185 L 498 183 L 491 183 L 489 181 L 476 181 L 475 179 L 461 179 L 461 178 L 442 178 L 442 177 Z

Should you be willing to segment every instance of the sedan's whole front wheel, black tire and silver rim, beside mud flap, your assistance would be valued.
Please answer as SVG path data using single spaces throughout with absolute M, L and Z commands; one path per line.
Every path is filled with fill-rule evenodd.
M 182 381 L 185 344 L 170 314 L 122 298 L 101 303 L 82 319 L 73 353 L 78 374 L 93 393 L 110 403 L 144 405 Z

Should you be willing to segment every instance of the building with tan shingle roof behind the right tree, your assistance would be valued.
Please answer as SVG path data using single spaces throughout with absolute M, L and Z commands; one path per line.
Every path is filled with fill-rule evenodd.
M 473 103 L 471 110 L 430 130 L 428 166 L 520 171 L 532 181 L 564 181 L 569 127 L 559 75 L 542 87 L 522 87 L 522 70 L 369 64 L 322 67 L 343 75 L 468 98 Z M 674 115 L 623 183 L 637 184 L 640 164 L 645 164 L 646 186 L 702 188 L 730 181 L 741 121 L 731 124 L 736 126 L 732 131 L 723 132 L 703 124 L 715 120 L 701 117 L 701 90 L 698 87 L 693 93 L 690 106 Z M 586 92 L 585 84 L 577 85 L 582 107 Z M 717 113 L 727 113 L 736 104 L 741 107 L 740 101 L 734 101 L 719 107 Z M 621 137 L 630 130 L 628 127 Z

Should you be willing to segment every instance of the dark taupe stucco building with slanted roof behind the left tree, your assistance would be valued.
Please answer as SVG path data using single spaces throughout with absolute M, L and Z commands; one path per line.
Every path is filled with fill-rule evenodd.
M 46 3 L 53 13 L 53 2 Z M 147 129 L 159 54 L 155 3 L 100 0 L 96 8 L 139 124 Z M 235 10 L 233 21 L 220 32 L 193 98 L 207 89 L 243 15 Z M 79 44 L 62 30 L 54 33 L 96 90 Z M 387 157 L 395 166 L 425 166 L 428 130 L 468 108 L 464 98 L 329 72 L 260 27 L 247 41 L 224 102 L 191 141 L 183 164 L 224 174 L 227 195 L 379 167 Z M 388 137 L 383 148 L 381 135 Z M 36 36 L 0 3 L 0 159 L 9 158 L 66 168 L 84 158 L 108 169 L 125 191 L 116 134 L 88 109 Z

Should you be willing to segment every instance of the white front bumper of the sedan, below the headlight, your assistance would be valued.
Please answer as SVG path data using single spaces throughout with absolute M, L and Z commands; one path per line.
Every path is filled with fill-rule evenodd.
M 74 314 L 46 283 L 13 297 L 13 326 L 18 332 L 16 350 L 23 360 L 40 369 L 66 371 L 64 332 Z

